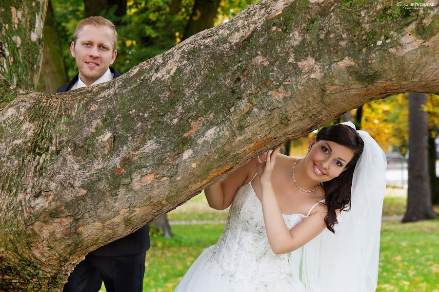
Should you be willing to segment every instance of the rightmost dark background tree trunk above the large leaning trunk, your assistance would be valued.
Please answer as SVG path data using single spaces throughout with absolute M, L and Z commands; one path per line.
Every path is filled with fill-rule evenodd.
M 182 40 L 211 28 L 217 17 L 218 7 L 220 7 L 220 0 L 195 0 Z

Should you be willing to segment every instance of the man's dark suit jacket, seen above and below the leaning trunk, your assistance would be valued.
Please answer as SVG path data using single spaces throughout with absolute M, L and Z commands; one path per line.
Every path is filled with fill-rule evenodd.
M 120 73 L 110 67 L 110 71 L 114 74 L 113 78 L 119 77 Z M 69 91 L 78 81 L 79 74 L 76 74 L 69 82 L 61 86 L 57 92 Z M 149 226 L 145 225 L 136 232 L 104 245 L 97 250 L 91 252 L 94 256 L 128 256 L 140 254 L 149 249 Z

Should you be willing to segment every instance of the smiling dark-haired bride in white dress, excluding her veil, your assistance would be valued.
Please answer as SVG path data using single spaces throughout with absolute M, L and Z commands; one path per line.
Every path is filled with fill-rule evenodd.
M 325 127 L 303 159 L 276 148 L 206 188 L 212 208 L 230 206 L 227 222 L 217 244 L 203 251 L 175 291 L 314 291 L 287 254 L 324 229 L 334 232 L 340 210 L 350 205 L 363 146 L 355 128 Z

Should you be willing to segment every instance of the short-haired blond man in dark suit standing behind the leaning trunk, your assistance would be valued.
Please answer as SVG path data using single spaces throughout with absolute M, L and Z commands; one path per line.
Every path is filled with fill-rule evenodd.
M 120 74 L 110 67 L 116 59 L 117 32 L 111 21 L 89 17 L 78 25 L 70 53 L 79 73 L 58 92 L 107 82 Z M 70 274 L 64 292 L 142 291 L 145 256 L 149 249 L 148 225 L 89 253 Z

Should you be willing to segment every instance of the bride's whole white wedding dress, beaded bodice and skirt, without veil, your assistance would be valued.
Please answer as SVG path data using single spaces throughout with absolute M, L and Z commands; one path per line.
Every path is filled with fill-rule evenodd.
M 306 216 L 282 215 L 288 229 L 317 204 Z M 174 292 L 306 292 L 288 260 L 287 254 L 276 255 L 270 248 L 250 181 L 238 189 L 217 244 L 201 253 Z

